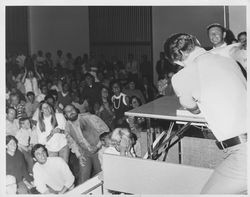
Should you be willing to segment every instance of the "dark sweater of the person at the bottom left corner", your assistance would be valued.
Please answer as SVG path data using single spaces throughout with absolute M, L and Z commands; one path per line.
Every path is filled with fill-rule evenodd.
M 16 177 L 17 183 L 22 181 L 23 178 L 29 182 L 33 180 L 28 173 L 27 164 L 21 151 L 16 150 L 14 156 L 6 152 L 6 175 L 7 174 Z

